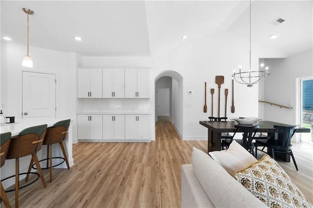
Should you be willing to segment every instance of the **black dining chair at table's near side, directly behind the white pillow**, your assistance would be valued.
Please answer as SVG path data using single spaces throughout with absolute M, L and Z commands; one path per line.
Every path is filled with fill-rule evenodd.
M 254 139 L 253 135 L 260 128 L 260 125 L 235 125 L 234 127 L 236 128 L 234 135 L 231 139 L 225 139 L 222 141 L 222 148 L 228 148 L 232 141 L 235 140 L 238 144 L 243 146 L 255 157 L 254 144 L 252 143 L 252 141 Z M 243 131 L 242 139 L 234 139 L 238 131 Z

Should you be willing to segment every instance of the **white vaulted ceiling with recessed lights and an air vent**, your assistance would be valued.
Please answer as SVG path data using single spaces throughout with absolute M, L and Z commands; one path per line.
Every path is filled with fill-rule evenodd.
M 1 0 L 0 6 L 1 42 L 10 37 L 26 44 L 26 7 L 35 12 L 31 46 L 82 56 L 153 56 L 174 43 L 218 31 L 248 41 L 247 0 Z M 312 48 L 312 14 L 312 0 L 252 1 L 253 44 L 287 56 Z M 271 24 L 279 17 L 285 21 Z M 270 39 L 272 34 L 277 39 Z M 183 35 L 188 38 L 182 40 Z

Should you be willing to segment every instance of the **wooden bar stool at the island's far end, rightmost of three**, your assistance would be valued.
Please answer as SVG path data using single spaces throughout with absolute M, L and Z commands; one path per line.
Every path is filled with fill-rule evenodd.
M 69 128 L 70 119 L 57 122 L 53 125 L 53 127 L 47 128 L 47 132 L 45 134 L 45 140 L 43 145 L 47 145 L 47 158 L 42 161 L 47 161 L 47 165 L 45 168 L 42 169 L 50 169 L 50 182 L 52 182 L 52 167 L 59 166 L 64 163 L 67 164 L 67 169 L 69 169 L 67 154 L 63 145 L 63 141 L 67 138 L 67 132 Z M 52 157 L 52 145 L 59 143 L 61 146 L 61 150 L 63 153 L 64 158 L 62 157 Z M 52 159 L 63 159 L 63 161 L 57 165 L 52 166 Z M 50 162 L 49 162 L 50 161 Z M 30 172 L 31 168 L 35 168 L 33 165 L 34 161 L 31 160 L 28 168 L 28 172 Z M 50 165 L 49 165 L 50 163 Z M 35 168 L 36 169 L 36 168 Z M 28 180 L 29 174 L 27 174 L 25 181 Z

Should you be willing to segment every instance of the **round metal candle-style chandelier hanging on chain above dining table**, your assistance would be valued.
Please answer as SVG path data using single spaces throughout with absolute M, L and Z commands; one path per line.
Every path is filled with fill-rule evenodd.
M 246 84 L 247 87 L 253 86 L 253 84 L 260 83 L 264 81 L 271 72 L 268 71 L 268 67 L 264 68 L 264 64 L 261 64 L 261 70 L 251 71 L 251 0 L 250 0 L 250 11 L 249 11 L 249 71 L 241 71 L 241 66 L 239 66 L 239 72 L 231 76 L 235 79 L 237 83 Z

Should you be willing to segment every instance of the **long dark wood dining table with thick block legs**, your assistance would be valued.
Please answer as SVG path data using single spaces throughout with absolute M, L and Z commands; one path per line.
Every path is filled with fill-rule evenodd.
M 208 129 L 207 153 L 209 153 L 212 151 L 221 150 L 222 133 L 235 132 L 235 125 L 238 125 L 238 123 L 236 121 L 200 121 L 200 125 L 203 125 Z M 258 121 L 253 125 L 260 125 L 260 128 L 257 130 L 257 132 L 266 133 L 268 136 L 275 131 L 274 125 L 293 126 L 272 121 Z M 297 133 L 310 132 L 310 130 L 310 128 L 299 127 Z M 238 132 L 241 132 L 241 130 L 238 129 Z M 275 139 L 280 139 L 282 136 L 282 132 L 277 131 L 275 134 Z M 290 162 L 289 154 L 280 154 L 279 158 L 285 162 Z

